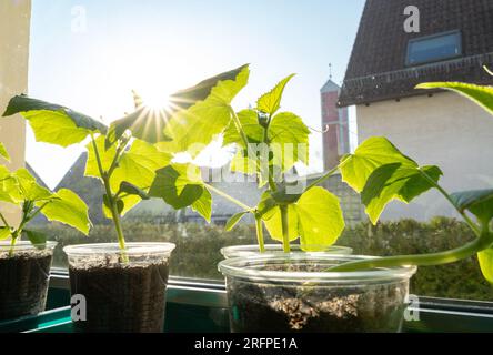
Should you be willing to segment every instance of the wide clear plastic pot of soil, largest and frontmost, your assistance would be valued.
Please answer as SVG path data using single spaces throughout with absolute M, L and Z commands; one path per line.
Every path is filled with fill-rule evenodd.
M 400 332 L 416 267 L 334 273 L 365 260 L 322 253 L 237 257 L 219 263 L 234 333 Z

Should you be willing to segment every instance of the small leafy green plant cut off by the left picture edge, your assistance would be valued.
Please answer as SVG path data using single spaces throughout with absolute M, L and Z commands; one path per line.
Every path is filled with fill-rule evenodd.
M 1 143 L 0 155 L 7 161 L 10 160 Z M 36 246 L 46 244 L 46 234 L 27 227 L 38 214 L 44 215 L 50 221 L 68 224 L 84 234 L 89 233 L 91 226 L 88 206 L 76 193 L 67 189 L 53 193 L 39 185 L 27 169 L 11 172 L 6 165 L 0 165 L 0 201 L 18 206 L 21 211 L 21 219 L 17 225 L 0 212 L 3 224 L 0 227 L 0 241 L 10 239 L 10 256 L 22 235 Z

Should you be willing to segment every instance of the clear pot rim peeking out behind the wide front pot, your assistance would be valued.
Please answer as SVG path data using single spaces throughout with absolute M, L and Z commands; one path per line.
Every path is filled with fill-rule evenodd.
M 302 245 L 291 245 L 291 253 L 304 253 L 304 250 L 302 248 Z M 314 245 L 311 245 L 310 247 L 316 247 Z M 351 255 L 353 253 L 353 250 L 348 246 L 322 246 L 316 247 L 318 250 L 321 250 L 321 253 L 326 254 L 338 254 L 338 255 Z M 282 244 L 265 244 L 265 251 L 263 253 L 260 252 L 258 244 L 252 245 L 231 245 L 225 246 L 221 248 L 221 254 L 224 256 L 224 258 L 233 258 L 233 257 L 240 257 L 240 256 L 261 256 L 262 254 L 284 254 L 284 250 Z

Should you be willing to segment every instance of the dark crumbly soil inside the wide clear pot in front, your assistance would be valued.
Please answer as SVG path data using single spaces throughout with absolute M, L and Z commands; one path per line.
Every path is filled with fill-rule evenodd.
M 228 278 L 231 331 L 400 332 L 408 287 L 408 282 L 334 287 L 289 286 Z

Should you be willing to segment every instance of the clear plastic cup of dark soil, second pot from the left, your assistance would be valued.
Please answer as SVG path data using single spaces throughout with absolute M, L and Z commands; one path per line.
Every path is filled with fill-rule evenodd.
M 72 296 L 85 298 L 78 332 L 159 333 L 164 326 L 172 243 L 66 246 Z

